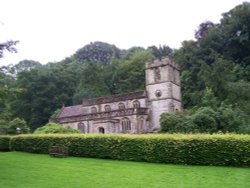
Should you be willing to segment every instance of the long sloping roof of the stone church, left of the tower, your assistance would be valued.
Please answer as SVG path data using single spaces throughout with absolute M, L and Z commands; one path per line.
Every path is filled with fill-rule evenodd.
M 56 118 L 72 117 L 72 116 L 89 114 L 88 109 L 83 108 L 85 106 L 140 99 L 140 98 L 145 98 L 145 97 L 146 97 L 145 91 L 137 91 L 133 93 L 125 93 L 125 94 L 118 94 L 118 95 L 112 95 L 112 96 L 106 96 L 106 97 L 100 97 L 100 98 L 94 98 L 94 99 L 87 99 L 87 100 L 83 100 L 81 105 L 63 107 Z

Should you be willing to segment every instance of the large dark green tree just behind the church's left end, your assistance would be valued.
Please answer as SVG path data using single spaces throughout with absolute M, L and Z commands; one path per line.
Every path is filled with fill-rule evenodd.
M 23 92 L 12 101 L 14 116 L 25 119 L 32 130 L 48 122 L 62 104 L 72 105 L 77 80 L 71 65 L 44 66 L 17 75 Z

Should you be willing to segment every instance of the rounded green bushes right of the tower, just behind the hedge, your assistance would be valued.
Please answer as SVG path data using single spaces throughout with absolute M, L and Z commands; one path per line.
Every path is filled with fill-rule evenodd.
M 169 133 L 248 133 L 250 119 L 232 105 L 220 103 L 206 88 L 199 106 L 185 112 L 163 113 L 161 132 Z

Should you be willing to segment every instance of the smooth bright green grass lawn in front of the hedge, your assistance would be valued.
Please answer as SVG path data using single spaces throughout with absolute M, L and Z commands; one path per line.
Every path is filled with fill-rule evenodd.
M 250 187 L 250 168 L 181 166 L 0 152 L 1 188 Z

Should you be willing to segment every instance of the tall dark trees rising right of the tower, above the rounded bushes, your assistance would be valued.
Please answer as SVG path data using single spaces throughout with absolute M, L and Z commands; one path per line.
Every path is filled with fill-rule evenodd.
M 184 41 L 174 54 L 181 69 L 183 104 L 199 106 L 209 87 L 220 102 L 249 112 L 250 3 L 222 16 L 218 24 L 200 24 L 196 40 Z

